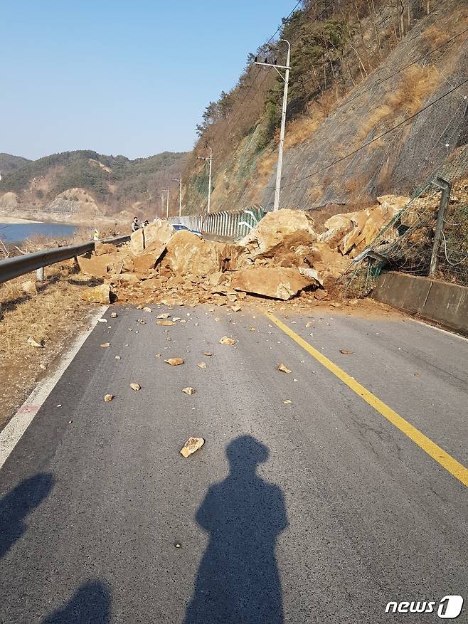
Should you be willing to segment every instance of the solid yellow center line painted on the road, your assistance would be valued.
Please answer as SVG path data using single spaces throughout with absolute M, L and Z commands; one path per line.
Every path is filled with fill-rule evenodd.
M 320 364 L 323 364 L 326 369 L 328 369 L 331 373 L 338 377 L 338 379 L 343 381 L 343 383 L 351 388 L 353 392 L 355 392 L 358 396 L 363 398 L 366 403 L 368 403 L 371 407 L 377 410 L 378 413 L 383 416 L 383 418 L 386 418 L 390 423 L 395 425 L 397 429 L 407 435 L 410 440 L 413 440 L 413 442 L 417 444 L 420 448 L 422 448 L 422 450 L 425 451 L 427 455 L 430 455 L 430 457 L 432 457 L 433 460 L 435 460 L 438 464 L 445 468 L 447 472 L 450 472 L 450 474 L 454 476 L 455 479 L 458 479 L 459 482 L 468 487 L 468 469 L 464 467 L 464 465 L 460 464 L 460 462 L 457 462 L 457 460 L 452 458 L 452 455 L 446 453 L 443 448 L 440 448 L 440 446 L 438 446 L 435 442 L 432 442 L 432 440 L 430 440 L 430 438 L 427 438 L 427 436 L 421 433 L 420 430 L 413 427 L 413 425 L 410 425 L 408 421 L 405 421 L 405 418 L 402 418 L 402 416 L 393 411 L 392 408 L 389 408 L 388 405 L 385 405 L 385 403 L 383 403 L 380 398 L 377 398 L 373 395 L 373 393 L 368 391 L 367 388 L 361 386 L 361 384 L 359 384 L 356 379 L 353 379 L 351 376 L 349 376 L 349 374 L 341 370 L 339 366 L 336 366 L 334 362 L 321 354 L 320 351 L 314 349 L 311 344 L 309 344 L 298 334 L 293 332 L 292 329 L 289 329 L 289 327 L 281 322 L 280 319 L 277 319 L 270 312 L 267 312 L 267 317 L 270 319 L 270 321 L 275 323 L 277 327 L 282 329 L 282 331 L 287 334 L 289 338 L 292 338 L 294 342 L 297 342 L 297 344 L 299 344 L 302 349 L 305 349 L 307 353 L 312 355 L 312 357 L 319 361 Z

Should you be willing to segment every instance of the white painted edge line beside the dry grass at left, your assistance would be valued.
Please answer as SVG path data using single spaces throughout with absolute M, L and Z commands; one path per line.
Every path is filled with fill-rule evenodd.
M 96 327 L 98 319 L 102 317 L 109 309 L 108 305 L 104 305 L 99 308 L 98 312 L 94 314 L 90 319 L 90 327 L 81 332 L 75 341 L 72 343 L 70 349 L 63 354 L 60 359 L 60 364 L 55 373 L 40 381 L 36 388 L 31 392 L 21 408 L 18 409 L 11 421 L 6 425 L 4 430 L 0 433 L 0 470 L 6 460 L 9 458 L 11 451 L 15 448 L 21 436 L 26 431 L 29 425 L 31 425 L 34 416 L 38 413 L 50 392 L 53 391 L 60 377 L 65 373 L 70 363 L 75 359 L 75 355 L 80 351 L 85 340 L 90 335 L 92 330 Z

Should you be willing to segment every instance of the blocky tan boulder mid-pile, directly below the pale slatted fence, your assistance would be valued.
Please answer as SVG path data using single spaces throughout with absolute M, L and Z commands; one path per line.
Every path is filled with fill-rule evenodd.
M 176 232 L 167 243 L 161 265 L 178 275 L 211 275 L 223 269 L 227 245 L 211 243 L 188 231 Z

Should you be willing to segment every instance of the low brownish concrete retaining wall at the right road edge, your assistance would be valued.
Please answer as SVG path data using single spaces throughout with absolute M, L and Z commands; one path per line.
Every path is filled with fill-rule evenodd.
M 377 280 L 373 299 L 468 335 L 468 288 L 389 271 Z

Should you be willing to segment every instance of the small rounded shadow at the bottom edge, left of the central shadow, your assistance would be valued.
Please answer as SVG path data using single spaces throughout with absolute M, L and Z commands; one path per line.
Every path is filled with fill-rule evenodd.
M 111 601 L 107 583 L 88 581 L 68 603 L 41 620 L 41 624 L 109 624 Z

